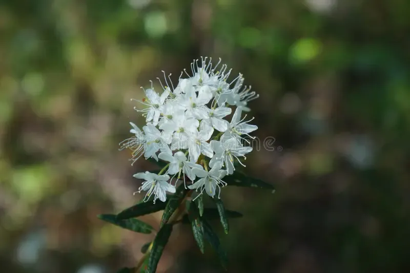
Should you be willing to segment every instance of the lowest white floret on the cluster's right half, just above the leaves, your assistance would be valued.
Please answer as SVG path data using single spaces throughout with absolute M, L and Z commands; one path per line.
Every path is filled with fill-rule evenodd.
M 203 190 L 205 190 L 209 196 L 214 197 L 216 188 L 218 187 L 220 195 L 220 186 L 225 186 L 227 184 L 226 182 L 223 182 L 221 180 L 224 176 L 227 175 L 227 171 L 221 170 L 221 167 L 221 163 L 216 163 L 209 172 L 203 169 L 194 168 L 193 172 L 197 177 L 200 177 L 200 179 L 194 184 L 189 185 L 188 188 L 196 191 L 200 190 L 199 195 L 201 195 Z M 218 198 L 220 197 L 219 195 Z

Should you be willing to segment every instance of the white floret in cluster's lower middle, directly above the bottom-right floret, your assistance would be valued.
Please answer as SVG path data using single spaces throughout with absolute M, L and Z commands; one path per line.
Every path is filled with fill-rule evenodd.
M 213 132 L 214 129 L 208 123 L 201 122 L 199 132 L 195 131 L 189 134 L 188 151 L 191 162 L 196 162 L 200 154 L 212 158 L 214 152 L 212 151 L 211 144 L 207 141 L 211 138 Z

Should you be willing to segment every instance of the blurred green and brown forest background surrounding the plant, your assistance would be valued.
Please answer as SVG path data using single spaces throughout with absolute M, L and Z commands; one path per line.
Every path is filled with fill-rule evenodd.
M 135 265 L 152 237 L 96 218 L 154 167 L 118 151 L 144 124 L 130 99 L 200 56 L 244 74 L 276 139 L 247 160 L 276 193 L 222 193 L 244 214 L 218 229 L 229 271 L 410 272 L 408 0 L 2 0 L 0 31 L 3 272 Z M 181 226 L 158 272 L 222 269 Z

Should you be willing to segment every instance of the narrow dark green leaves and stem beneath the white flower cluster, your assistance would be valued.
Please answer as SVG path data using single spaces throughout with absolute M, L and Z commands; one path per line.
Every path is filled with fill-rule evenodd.
M 158 162 L 158 166 L 163 165 Z M 272 188 L 270 184 L 264 183 L 261 180 L 246 177 L 243 174 L 235 177 L 235 185 L 251 187 L 253 184 L 250 181 L 258 181 L 258 185 L 264 188 Z M 201 253 L 204 253 L 204 241 L 208 241 L 216 251 L 222 266 L 227 269 L 228 260 L 227 254 L 222 249 L 218 235 L 212 229 L 209 220 L 220 219 L 221 225 L 226 234 L 229 231 L 228 218 L 238 218 L 242 215 L 238 212 L 226 210 L 222 200 L 216 196 L 212 198 L 216 208 L 202 208 L 202 214 L 198 209 L 198 204 L 203 204 L 202 198 L 197 203 L 187 200 L 192 190 L 187 190 L 183 182 L 177 187 L 176 193 L 172 195 L 166 202 L 157 201 L 141 202 L 131 206 L 117 215 L 100 215 L 98 218 L 107 221 L 122 228 L 127 228 L 137 233 L 151 233 L 152 227 L 134 217 L 154 213 L 161 209 L 162 214 L 161 226 L 155 236 L 153 242 L 149 242 L 142 246 L 141 253 L 145 256 L 138 262 L 138 265 L 132 270 L 140 270 L 144 273 L 155 273 L 159 259 L 161 258 L 163 249 L 168 243 L 171 236 L 173 225 L 178 223 L 190 223 L 192 226 L 193 236 L 198 244 Z M 210 198 L 210 197 L 209 197 Z M 146 261 L 147 260 L 147 261 Z M 120 269 L 119 272 L 128 272 L 131 270 L 127 267 Z

